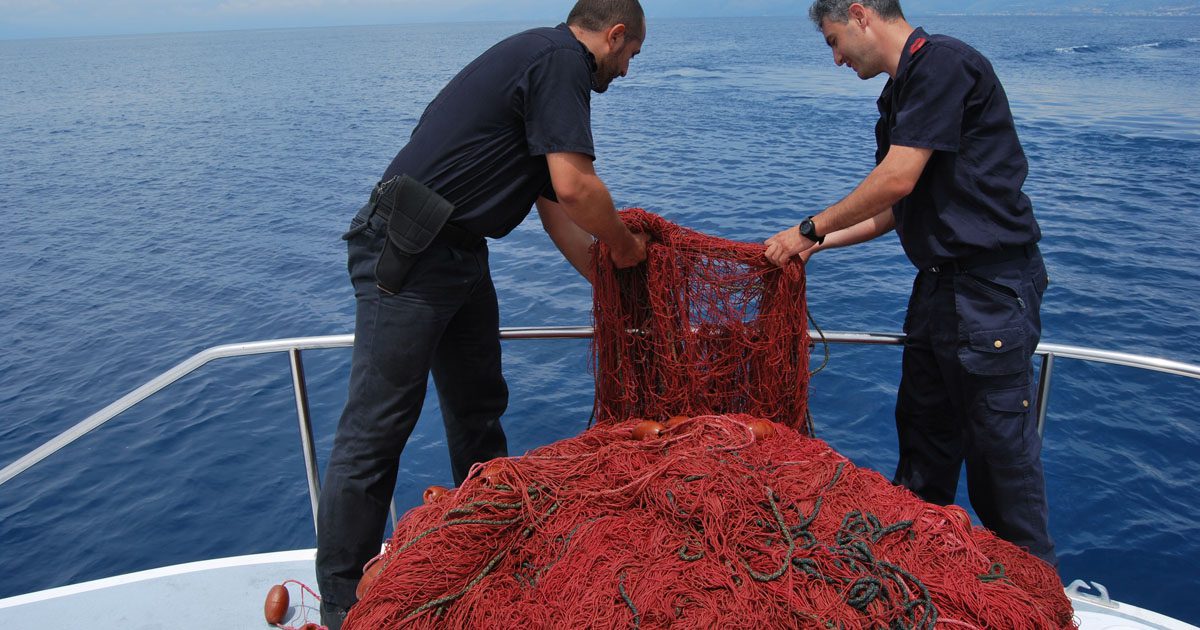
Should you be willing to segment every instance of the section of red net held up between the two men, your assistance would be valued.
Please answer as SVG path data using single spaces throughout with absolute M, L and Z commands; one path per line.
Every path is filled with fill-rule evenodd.
M 812 434 L 804 266 L 641 209 L 622 218 L 652 240 L 634 269 L 604 245 L 592 259 L 596 421 L 745 413 Z

